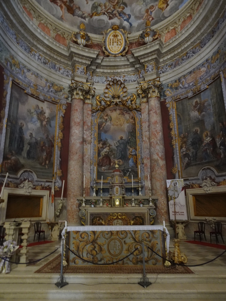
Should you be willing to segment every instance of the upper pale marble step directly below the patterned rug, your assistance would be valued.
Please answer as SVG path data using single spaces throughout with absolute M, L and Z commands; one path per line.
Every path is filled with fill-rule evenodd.
M 226 284 L 226 273 L 215 275 L 214 272 L 207 274 L 148 274 L 151 283 L 155 284 Z M 203 274 L 203 275 L 202 275 Z M 17 273 L 0 274 L 1 284 L 55 284 L 59 281 L 59 274 L 30 274 L 21 275 Z M 69 284 L 137 284 L 141 281 L 140 274 L 64 274 L 66 282 Z M 226 287 L 226 286 L 225 286 Z

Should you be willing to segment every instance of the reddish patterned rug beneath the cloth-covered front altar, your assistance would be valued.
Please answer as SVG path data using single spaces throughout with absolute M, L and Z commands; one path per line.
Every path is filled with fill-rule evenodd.
M 186 266 L 171 265 L 166 268 L 160 265 L 146 265 L 147 274 L 194 274 L 190 268 Z M 61 254 L 56 256 L 35 273 L 57 273 L 61 270 Z M 143 265 L 84 265 L 84 266 L 67 266 L 63 268 L 63 273 L 107 273 L 107 274 L 143 274 Z

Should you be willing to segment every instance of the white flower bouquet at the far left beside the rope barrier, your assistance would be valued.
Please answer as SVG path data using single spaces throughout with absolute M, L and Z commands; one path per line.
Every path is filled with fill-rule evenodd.
M 3 243 L 3 246 L 0 246 L 0 256 L 2 257 L 0 262 L 0 273 L 10 273 L 10 264 L 8 259 L 18 248 L 19 246 L 17 246 L 17 243 L 14 240 L 6 240 Z

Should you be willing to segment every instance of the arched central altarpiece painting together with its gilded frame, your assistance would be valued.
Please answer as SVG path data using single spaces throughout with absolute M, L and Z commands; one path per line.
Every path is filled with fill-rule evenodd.
M 117 105 L 107 107 L 92 116 L 92 170 L 96 167 L 95 181 L 108 182 L 116 161 L 127 183 L 138 181 L 143 172 L 141 113 Z

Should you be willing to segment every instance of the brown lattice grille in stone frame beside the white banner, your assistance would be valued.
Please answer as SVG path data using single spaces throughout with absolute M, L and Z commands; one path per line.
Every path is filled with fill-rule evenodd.
M 193 195 L 194 215 L 226 217 L 226 193 Z

